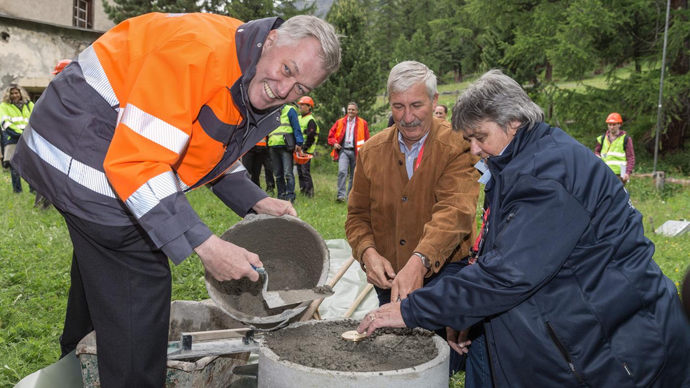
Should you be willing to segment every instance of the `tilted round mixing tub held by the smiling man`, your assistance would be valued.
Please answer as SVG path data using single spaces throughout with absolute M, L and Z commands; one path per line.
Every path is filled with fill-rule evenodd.
M 248 215 L 221 239 L 259 255 L 268 272 L 268 291 L 311 289 L 326 284 L 328 246 L 311 225 L 297 217 Z M 219 282 L 206 273 L 208 295 L 229 316 L 254 329 L 276 329 L 299 318 L 309 302 L 270 309 L 262 298 L 262 280 Z

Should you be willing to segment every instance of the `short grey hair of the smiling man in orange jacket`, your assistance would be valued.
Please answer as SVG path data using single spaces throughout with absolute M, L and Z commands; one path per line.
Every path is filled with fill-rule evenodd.
M 277 46 L 296 46 L 305 38 L 314 38 L 321 45 L 321 59 L 328 74 L 340 67 L 340 35 L 330 23 L 315 16 L 300 14 L 290 17 L 276 30 Z

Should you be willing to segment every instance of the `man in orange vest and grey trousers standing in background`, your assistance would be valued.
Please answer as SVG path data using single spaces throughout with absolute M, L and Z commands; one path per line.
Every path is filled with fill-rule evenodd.
M 345 202 L 352 190 L 357 151 L 369 139 L 369 124 L 365 119 L 357 116 L 357 111 L 357 103 L 347 104 L 347 115 L 338 119 L 328 131 L 328 145 L 333 147 L 331 156 L 335 162 L 338 162 L 338 193 L 335 202 Z M 345 191 L 348 175 L 350 183 Z

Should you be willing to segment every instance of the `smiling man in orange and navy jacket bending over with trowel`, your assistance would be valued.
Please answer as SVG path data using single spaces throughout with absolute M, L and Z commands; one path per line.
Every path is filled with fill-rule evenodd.
M 74 253 L 63 356 L 97 332 L 103 387 L 162 387 L 170 267 L 196 252 L 218 280 L 259 276 L 259 257 L 211 233 L 184 193 L 296 215 L 238 162 L 287 101 L 339 66 L 316 17 L 243 23 L 145 14 L 119 23 L 48 85 L 12 165 L 65 218 Z

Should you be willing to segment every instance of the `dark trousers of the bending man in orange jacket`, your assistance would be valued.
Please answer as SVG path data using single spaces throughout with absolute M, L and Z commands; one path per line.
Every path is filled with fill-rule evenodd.
M 140 226 L 105 226 L 62 214 L 74 247 L 62 356 L 95 330 L 101 387 L 163 387 L 168 258 Z

